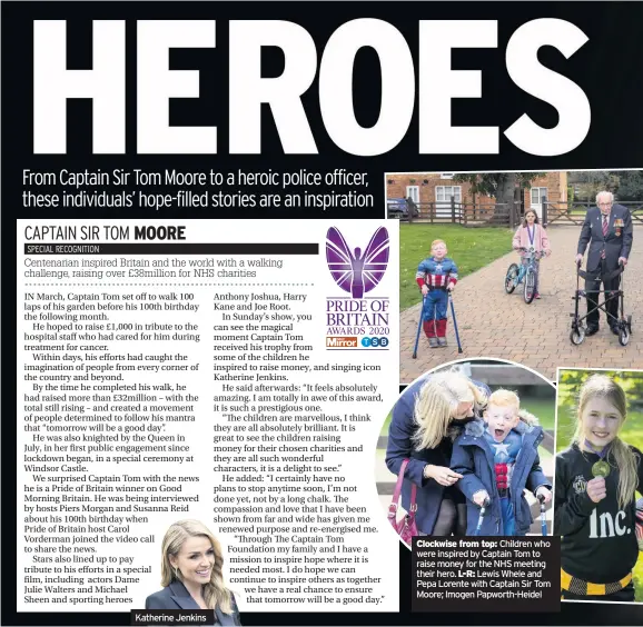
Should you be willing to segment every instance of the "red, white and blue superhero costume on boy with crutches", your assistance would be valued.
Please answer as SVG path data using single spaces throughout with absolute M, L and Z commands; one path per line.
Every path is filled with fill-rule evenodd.
M 457 266 L 448 257 L 424 259 L 417 267 L 415 280 L 419 288 L 426 285 L 428 293 L 422 312 L 423 328 L 427 338 L 446 337 L 447 286 L 457 282 Z

